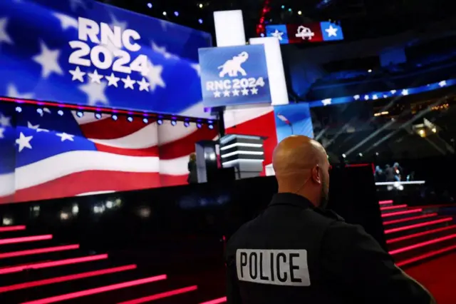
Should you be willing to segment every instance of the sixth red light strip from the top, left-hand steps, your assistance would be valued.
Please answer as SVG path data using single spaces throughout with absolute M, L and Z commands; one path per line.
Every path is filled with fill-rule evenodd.
M 166 280 L 166 275 L 156 275 L 155 277 L 150 277 L 150 278 L 142 278 L 139 280 L 130 280 L 128 282 L 123 282 L 123 283 L 118 283 L 118 284 L 113 284 L 113 285 L 107 285 L 103 287 L 98 287 L 98 288 L 92 288 L 92 289 L 87 289 L 87 290 L 81 290 L 77 291 L 76 293 L 66 293 L 65 295 L 56 295 L 50 298 L 44 298 L 40 300 L 33 300 L 30 302 L 25 302 L 22 304 L 47 304 L 47 303 L 56 303 L 60 301 L 65 301 L 65 300 L 71 300 L 74 298 L 81 298 L 85 297 L 86 295 L 95 295 L 97 293 L 105 293 L 107 291 L 111 290 L 116 290 L 116 289 L 121 289 L 121 288 L 128 288 L 132 286 L 137 286 L 137 285 L 142 285 L 142 284 L 147 284 L 147 283 L 152 283 L 156 282 L 158 280 Z

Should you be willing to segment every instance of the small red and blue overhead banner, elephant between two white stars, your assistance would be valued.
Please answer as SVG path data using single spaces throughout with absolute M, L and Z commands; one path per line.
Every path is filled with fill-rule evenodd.
M 281 44 L 343 40 L 342 27 L 332 22 L 311 24 L 274 24 L 266 26 L 266 36 L 276 37 Z

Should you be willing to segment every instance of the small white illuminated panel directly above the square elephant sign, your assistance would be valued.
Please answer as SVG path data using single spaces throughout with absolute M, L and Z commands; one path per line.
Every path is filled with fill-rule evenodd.
M 217 46 L 242 46 L 245 44 L 242 11 L 214 11 Z

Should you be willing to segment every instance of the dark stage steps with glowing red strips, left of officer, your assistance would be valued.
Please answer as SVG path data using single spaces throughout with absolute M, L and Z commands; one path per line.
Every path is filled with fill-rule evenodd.
M 25 226 L 0 226 L 1 303 L 224 303 L 193 276 L 150 273 Z

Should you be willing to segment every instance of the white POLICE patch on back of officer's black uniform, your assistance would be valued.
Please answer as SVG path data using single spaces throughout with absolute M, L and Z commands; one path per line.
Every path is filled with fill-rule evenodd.
M 271 285 L 310 286 L 307 250 L 238 249 L 239 280 Z

